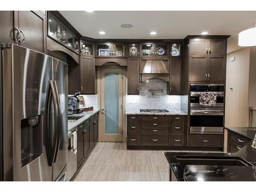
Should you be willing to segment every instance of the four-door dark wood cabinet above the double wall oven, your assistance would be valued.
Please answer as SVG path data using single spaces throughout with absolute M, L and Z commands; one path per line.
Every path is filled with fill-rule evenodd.
M 224 82 L 226 79 L 226 39 L 189 40 L 189 81 Z

